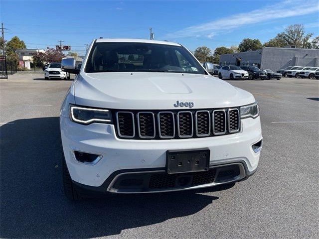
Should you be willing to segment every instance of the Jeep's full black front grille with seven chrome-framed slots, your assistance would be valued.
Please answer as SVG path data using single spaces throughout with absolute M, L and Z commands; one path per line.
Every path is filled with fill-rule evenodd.
M 240 130 L 240 114 L 237 108 L 118 111 L 115 115 L 117 135 L 120 138 L 198 138 L 237 133 Z

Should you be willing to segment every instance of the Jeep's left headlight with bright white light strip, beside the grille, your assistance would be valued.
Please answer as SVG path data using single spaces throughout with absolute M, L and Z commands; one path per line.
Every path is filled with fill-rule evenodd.
M 70 119 L 81 124 L 112 123 L 111 111 L 70 105 Z

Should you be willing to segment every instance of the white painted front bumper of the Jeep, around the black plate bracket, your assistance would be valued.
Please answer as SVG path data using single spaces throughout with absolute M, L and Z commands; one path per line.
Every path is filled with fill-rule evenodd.
M 262 139 L 259 117 L 242 119 L 241 131 L 235 134 L 191 139 L 119 139 L 113 124 L 82 125 L 65 117 L 60 117 L 60 127 L 63 152 L 70 176 L 76 185 L 89 187 L 91 191 L 107 189 L 115 192 L 110 187 L 111 182 L 123 170 L 164 170 L 167 150 L 208 148 L 211 152 L 211 167 L 231 163 L 243 165 L 245 173 L 237 178 L 238 181 L 257 169 L 260 152 L 255 153 L 252 145 Z M 74 150 L 99 154 L 102 158 L 95 164 L 88 165 L 76 160 Z M 188 186 L 182 190 L 214 185 L 217 185 L 216 182 Z M 174 190 L 181 189 L 173 188 L 169 191 Z

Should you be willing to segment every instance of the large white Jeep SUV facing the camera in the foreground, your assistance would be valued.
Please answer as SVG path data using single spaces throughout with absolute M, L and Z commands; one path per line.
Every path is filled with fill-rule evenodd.
M 177 43 L 96 39 L 62 103 L 68 198 L 241 181 L 258 166 L 259 107 Z

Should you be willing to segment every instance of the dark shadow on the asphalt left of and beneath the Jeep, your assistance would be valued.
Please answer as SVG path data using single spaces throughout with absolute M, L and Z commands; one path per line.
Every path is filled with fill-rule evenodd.
M 18 119 L 1 125 L 0 133 L 1 238 L 117 235 L 195 214 L 218 199 L 198 193 L 206 189 L 70 202 L 62 188 L 58 117 Z

